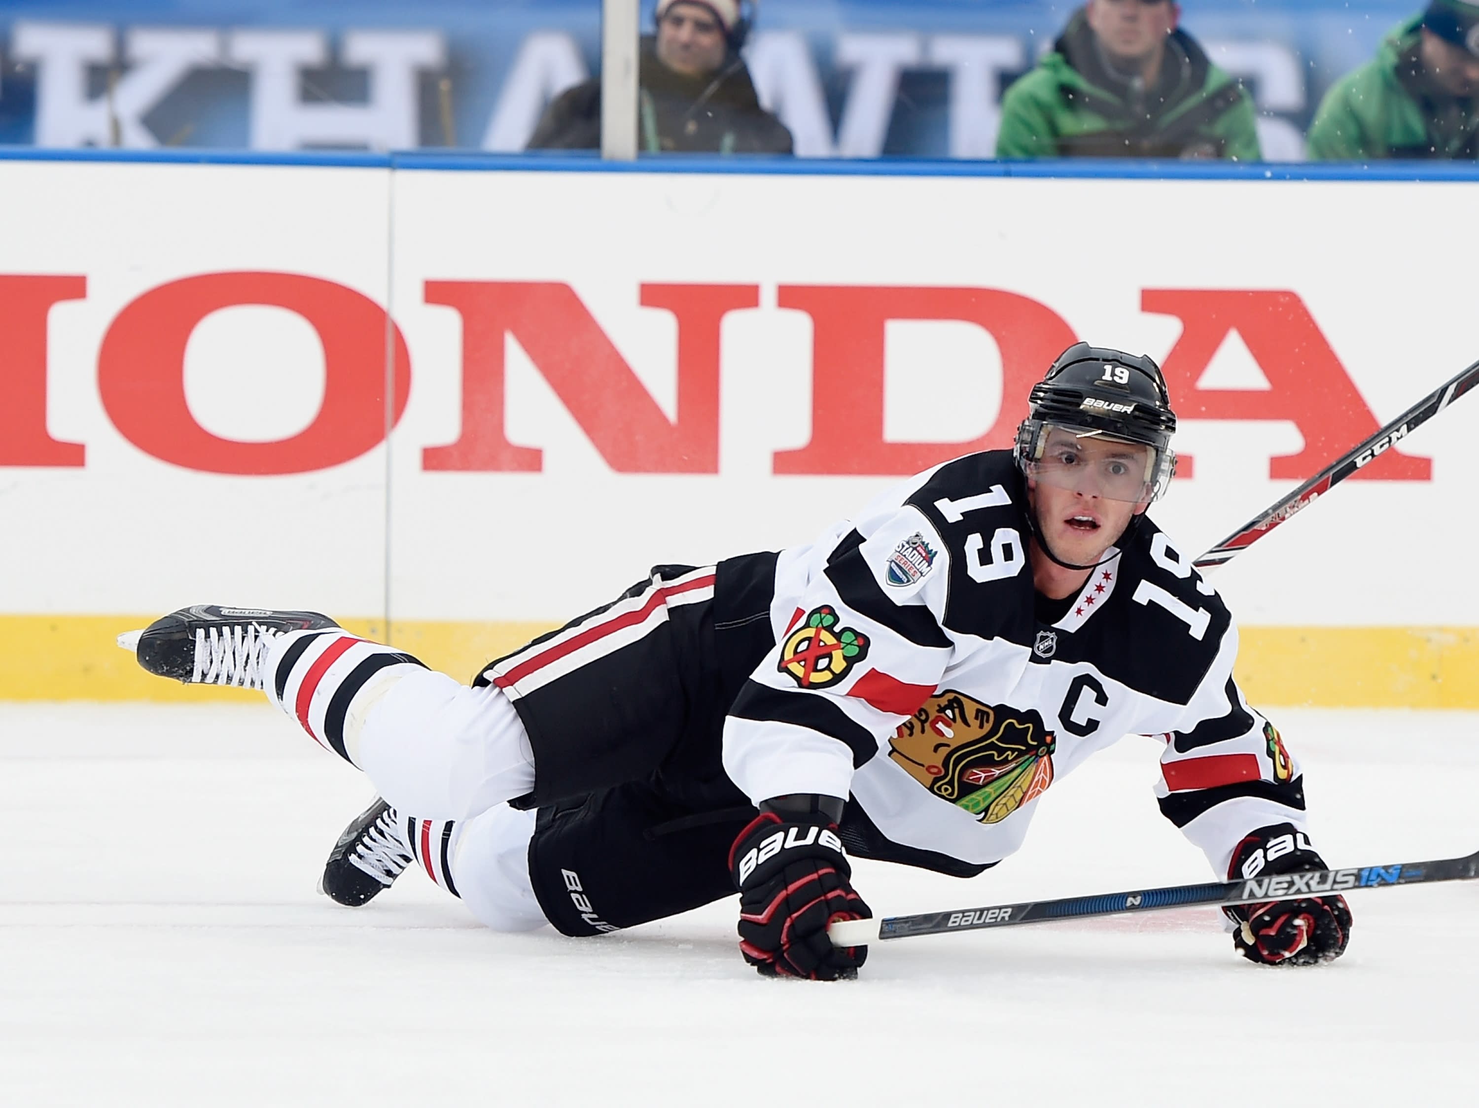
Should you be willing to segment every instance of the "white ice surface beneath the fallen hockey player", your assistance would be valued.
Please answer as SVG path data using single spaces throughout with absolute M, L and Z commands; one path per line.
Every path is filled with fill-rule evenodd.
M 1275 712 L 1334 865 L 1479 848 L 1479 716 Z M 880 914 L 1208 879 L 1126 740 L 972 882 L 861 862 Z M 416 871 L 315 894 L 365 781 L 271 709 L 0 706 L 4 1105 L 1473 1105 L 1479 883 L 1352 896 L 1270 970 L 1208 910 L 874 947 L 762 981 L 729 902 L 494 935 Z

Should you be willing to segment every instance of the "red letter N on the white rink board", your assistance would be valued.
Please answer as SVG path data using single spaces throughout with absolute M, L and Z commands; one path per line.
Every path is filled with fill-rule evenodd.
M 525 470 L 543 453 L 504 429 L 504 336 L 512 334 L 555 395 L 620 473 L 719 472 L 719 327 L 760 303 L 757 286 L 645 284 L 642 305 L 677 318 L 677 419 L 663 414 L 605 331 L 566 284 L 427 281 L 426 302 L 463 322 L 461 435 L 430 447 L 426 469 Z

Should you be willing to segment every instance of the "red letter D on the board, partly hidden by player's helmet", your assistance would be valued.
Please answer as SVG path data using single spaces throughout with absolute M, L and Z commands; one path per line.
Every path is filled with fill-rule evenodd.
M 1050 308 L 997 288 L 781 286 L 781 308 L 812 317 L 812 441 L 775 454 L 776 473 L 917 473 L 973 450 L 1012 445 L 1026 393 L 1074 343 Z M 883 327 L 889 320 L 963 320 L 1001 351 L 1004 401 L 969 442 L 883 439 Z M 942 405 L 950 404 L 941 396 Z

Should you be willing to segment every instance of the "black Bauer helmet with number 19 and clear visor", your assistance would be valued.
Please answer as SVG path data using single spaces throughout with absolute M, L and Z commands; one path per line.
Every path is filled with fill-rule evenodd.
M 1176 413 L 1161 367 L 1145 355 L 1086 342 L 1063 351 L 1047 376 L 1032 386 L 1031 413 L 1018 428 L 1016 460 L 1028 476 L 1044 479 L 1052 432 L 1066 438 L 1096 438 L 1148 447 L 1143 470 L 1117 473 L 1115 488 L 1100 488 L 1115 500 L 1155 500 L 1176 472 L 1171 435 Z M 1052 479 L 1052 478 L 1047 478 Z M 1056 482 L 1055 482 L 1056 484 Z

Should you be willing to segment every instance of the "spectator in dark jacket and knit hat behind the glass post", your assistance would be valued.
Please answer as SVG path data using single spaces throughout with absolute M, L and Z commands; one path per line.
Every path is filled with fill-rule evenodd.
M 791 152 L 791 133 L 760 107 L 740 56 L 742 30 L 740 0 L 658 0 L 637 67 L 642 151 Z M 599 78 L 561 93 L 529 139 L 529 149 L 598 146 Z

